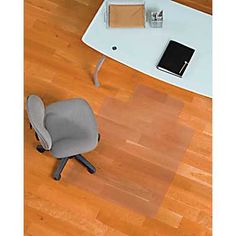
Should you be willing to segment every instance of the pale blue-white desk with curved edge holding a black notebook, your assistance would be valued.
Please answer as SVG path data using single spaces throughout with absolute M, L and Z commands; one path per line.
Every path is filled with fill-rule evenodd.
M 146 0 L 146 11 L 163 9 L 163 28 L 107 28 L 106 0 L 83 35 L 88 46 L 114 60 L 169 84 L 212 96 L 212 17 L 170 0 Z M 183 78 L 162 72 L 156 65 L 169 40 L 195 49 Z M 112 50 L 116 46 L 117 50 Z M 104 61 L 102 58 L 101 63 Z M 98 65 L 98 68 L 101 66 Z

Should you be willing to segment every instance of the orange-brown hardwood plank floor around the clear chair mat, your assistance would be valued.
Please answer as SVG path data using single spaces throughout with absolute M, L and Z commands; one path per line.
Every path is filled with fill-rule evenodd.
M 181 1 L 211 12 L 210 1 Z M 25 98 L 37 94 L 49 104 L 83 97 L 99 116 L 104 114 L 102 109 L 109 99 L 128 104 L 137 88 L 149 88 L 183 104 L 178 122 L 193 131 L 192 138 L 158 211 L 150 217 L 63 177 L 60 182 L 53 181 L 56 160 L 49 153 L 35 151 L 37 142 L 25 116 L 25 235 L 211 235 L 212 101 L 109 59 L 99 74 L 102 87 L 95 88 L 91 74 L 100 54 L 80 39 L 101 3 L 102 0 L 25 0 Z M 110 107 L 114 109 L 114 104 Z M 138 118 L 137 113 L 135 116 Z M 103 124 L 105 127 L 104 120 Z M 115 128 L 110 129 L 112 132 Z M 125 130 L 122 132 L 126 135 Z M 115 141 L 101 140 L 101 146 L 108 147 L 103 156 L 106 163 L 114 157 L 114 148 L 119 149 L 120 140 L 117 146 Z M 155 148 L 155 140 L 142 139 L 140 143 Z M 99 155 L 94 153 L 88 157 L 96 163 Z M 71 162 L 65 171 L 76 168 Z M 77 173 L 87 174 L 79 165 Z M 149 183 L 151 179 L 145 181 Z

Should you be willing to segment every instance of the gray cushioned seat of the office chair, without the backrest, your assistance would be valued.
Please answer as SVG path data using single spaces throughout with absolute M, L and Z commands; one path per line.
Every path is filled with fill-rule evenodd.
M 70 99 L 50 104 L 45 127 L 52 138 L 52 154 L 57 158 L 85 153 L 97 146 L 97 125 L 88 103 Z

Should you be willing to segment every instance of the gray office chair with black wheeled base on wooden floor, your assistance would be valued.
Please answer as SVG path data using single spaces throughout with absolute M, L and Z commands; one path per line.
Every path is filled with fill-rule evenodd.
M 100 134 L 93 111 L 81 98 L 55 102 L 45 108 L 43 101 L 36 95 L 27 97 L 27 113 L 30 128 L 41 145 L 37 151 L 50 151 L 59 159 L 53 173 L 55 180 L 60 180 L 61 173 L 71 158 L 82 163 L 89 173 L 96 172 L 95 167 L 87 161 L 82 153 L 92 151 L 98 144 Z

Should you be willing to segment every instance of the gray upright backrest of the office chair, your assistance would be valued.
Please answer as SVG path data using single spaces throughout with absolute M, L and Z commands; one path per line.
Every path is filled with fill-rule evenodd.
M 52 138 L 44 125 L 45 107 L 43 101 L 36 95 L 30 95 L 27 97 L 26 109 L 30 123 L 37 133 L 40 143 L 45 150 L 50 150 Z

